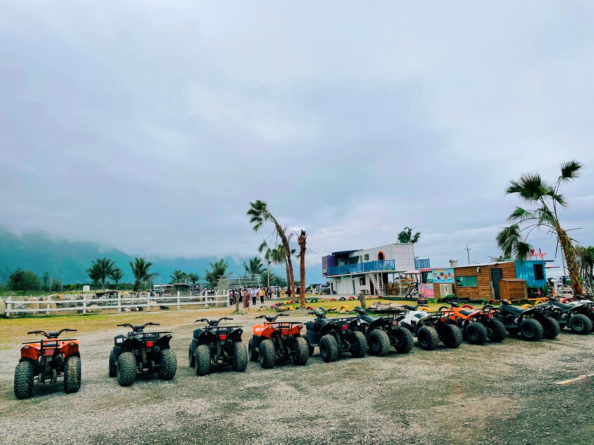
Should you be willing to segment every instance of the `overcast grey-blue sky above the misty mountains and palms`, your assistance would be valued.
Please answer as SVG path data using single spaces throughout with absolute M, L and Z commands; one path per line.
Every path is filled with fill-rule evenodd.
M 483 262 L 508 180 L 577 158 L 563 222 L 594 244 L 592 2 L 34 5 L 0 1 L 8 230 L 244 257 L 263 199 L 312 270 L 405 226 L 434 266 Z

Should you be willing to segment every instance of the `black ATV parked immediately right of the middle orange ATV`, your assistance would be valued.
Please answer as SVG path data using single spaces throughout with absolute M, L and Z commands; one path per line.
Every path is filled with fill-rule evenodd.
M 359 329 L 359 317 L 339 317 L 328 319 L 321 307 L 308 312 L 315 315 L 315 320 L 305 323 L 309 357 L 314 348 L 320 348 L 320 355 L 325 362 L 338 360 L 341 352 L 350 352 L 353 357 L 361 358 L 367 354 L 367 340 Z

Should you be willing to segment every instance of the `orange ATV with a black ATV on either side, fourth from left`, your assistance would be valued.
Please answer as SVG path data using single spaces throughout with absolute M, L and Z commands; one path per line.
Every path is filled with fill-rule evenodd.
M 307 340 L 301 336 L 302 323 L 277 322 L 275 316 L 261 315 L 255 319 L 266 319 L 261 325 L 254 325 L 254 335 L 248 342 L 248 355 L 251 361 L 260 361 L 263 368 L 274 366 L 277 358 L 292 358 L 296 365 L 305 365 L 309 358 Z

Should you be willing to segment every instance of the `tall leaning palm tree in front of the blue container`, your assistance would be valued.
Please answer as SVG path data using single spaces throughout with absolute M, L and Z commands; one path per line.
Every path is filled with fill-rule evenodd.
M 580 170 L 583 164 L 576 161 L 568 161 L 560 165 L 561 175 L 555 182 L 548 182 L 541 178 L 539 173 L 524 173 L 519 180 L 511 180 L 505 189 L 506 195 L 518 195 L 527 204 L 535 205 L 536 208 L 526 210 L 516 206 L 507 221 L 513 222 L 510 227 L 503 227 L 497 234 L 497 245 L 504 255 L 514 254 L 514 257 L 523 261 L 530 255 L 532 246 L 526 242 L 534 228 L 547 228 L 549 233 L 557 236 L 561 244 L 561 250 L 567 262 L 567 269 L 571 278 L 574 295 L 582 295 L 582 284 L 580 284 L 579 268 L 576 259 L 576 250 L 571 245 L 571 238 L 561 227 L 557 216 L 559 209 L 567 208 L 569 205 L 565 196 L 559 193 L 561 184 L 565 184 L 580 177 Z M 520 225 L 525 227 L 520 228 Z M 529 228 L 526 236 L 522 236 L 522 230 Z

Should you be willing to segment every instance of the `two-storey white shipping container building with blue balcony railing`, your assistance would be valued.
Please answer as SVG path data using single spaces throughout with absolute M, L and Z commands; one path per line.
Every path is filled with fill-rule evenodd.
M 413 244 L 386 244 L 364 250 L 343 250 L 322 258 L 322 272 L 336 294 L 385 295 L 393 274 L 415 268 Z M 390 274 L 392 274 L 390 279 Z

